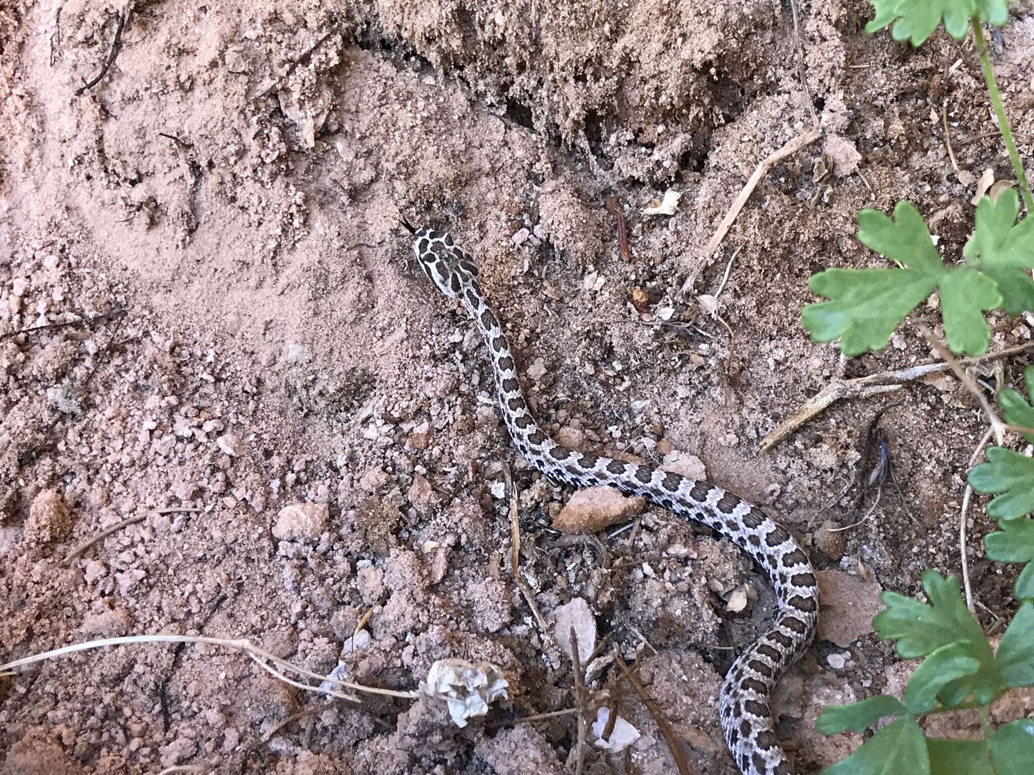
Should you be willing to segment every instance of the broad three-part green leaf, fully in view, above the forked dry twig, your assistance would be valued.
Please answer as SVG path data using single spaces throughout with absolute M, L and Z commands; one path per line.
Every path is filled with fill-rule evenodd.
M 827 269 L 813 275 L 809 286 L 829 299 L 801 311 L 801 322 L 814 341 L 843 337 L 841 350 L 847 355 L 880 349 L 898 323 L 940 288 L 948 346 L 974 355 L 986 351 L 991 330 L 982 310 L 1002 304 L 999 285 L 972 267 L 944 266 L 914 207 L 899 202 L 894 220 L 862 210 L 858 240 L 904 269 Z

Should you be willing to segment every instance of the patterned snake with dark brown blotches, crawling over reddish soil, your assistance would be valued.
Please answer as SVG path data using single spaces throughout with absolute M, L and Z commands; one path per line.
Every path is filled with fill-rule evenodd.
M 771 627 L 729 668 L 719 690 L 719 716 L 729 752 L 742 775 L 792 775 L 773 731 L 773 687 L 815 638 L 819 587 L 811 561 L 782 525 L 758 506 L 714 485 L 666 471 L 582 453 L 551 439 L 535 422 L 517 377 L 503 326 L 478 284 L 478 269 L 452 235 L 400 221 L 427 277 L 459 300 L 488 345 L 499 409 L 513 444 L 535 468 L 576 488 L 609 486 L 642 496 L 727 537 L 760 565 L 776 590 Z

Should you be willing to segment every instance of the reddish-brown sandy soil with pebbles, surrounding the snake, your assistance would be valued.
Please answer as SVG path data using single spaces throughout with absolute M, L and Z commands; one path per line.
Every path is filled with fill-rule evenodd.
M 611 702 L 641 734 L 618 754 L 590 735 L 584 772 L 674 771 L 615 652 L 638 659 L 695 771 L 734 772 L 718 686 L 730 649 L 771 614 L 764 579 L 663 510 L 599 546 L 549 530 L 570 493 L 509 447 L 477 333 L 415 266 L 399 216 L 477 257 L 552 433 L 695 455 L 813 547 L 823 631 L 784 681 L 780 734 L 805 773 L 857 745 L 818 738 L 814 718 L 900 687 L 869 618 L 881 588 L 957 572 L 980 414 L 940 375 L 835 406 L 769 454 L 757 442 L 842 370 L 929 357 L 909 323 L 886 351 L 842 364 L 808 341 L 799 310 L 813 272 L 880 265 L 853 239 L 862 207 L 907 198 L 961 253 L 975 179 L 1009 176 L 971 48 L 937 35 L 915 52 L 861 34 L 866 2 L 799 2 L 805 90 L 774 0 L 130 5 L 115 63 L 81 96 L 117 8 L 0 6 L 0 660 L 205 633 L 403 690 L 435 659 L 484 659 L 511 696 L 463 730 L 429 700 L 312 712 L 323 698 L 242 655 L 119 647 L 0 681 L 0 772 L 572 771 L 575 715 L 515 722 L 576 701 L 571 662 L 514 583 L 508 466 L 536 605 L 552 620 L 587 601 L 590 704 Z M 1028 159 L 1032 13 L 1015 6 L 995 50 Z M 756 163 L 811 126 L 810 104 L 823 140 L 779 164 L 707 255 Z M 816 181 L 823 152 L 834 173 Z M 638 215 L 669 187 L 676 215 Z M 606 196 L 629 214 L 628 261 Z M 720 298 L 730 338 L 696 297 L 734 254 Z M 992 323 L 993 349 L 1031 338 Z M 856 527 L 820 530 L 872 504 L 831 501 L 891 402 L 900 493 Z M 300 503 L 315 505 L 281 515 Z M 979 509 L 971 522 L 991 624 L 1009 613 L 1011 577 L 982 557 Z M 727 613 L 744 583 L 757 601 Z

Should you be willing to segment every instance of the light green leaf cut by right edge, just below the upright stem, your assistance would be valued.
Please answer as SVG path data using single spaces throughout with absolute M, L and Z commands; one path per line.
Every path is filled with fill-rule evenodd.
M 1002 293 L 1006 314 L 1018 315 L 1034 310 L 1034 218 L 1015 223 L 1020 196 L 1014 190 L 1003 191 L 997 200 L 980 199 L 976 208 L 976 227 L 963 250 L 966 260 L 979 257 L 980 272 L 992 278 Z

